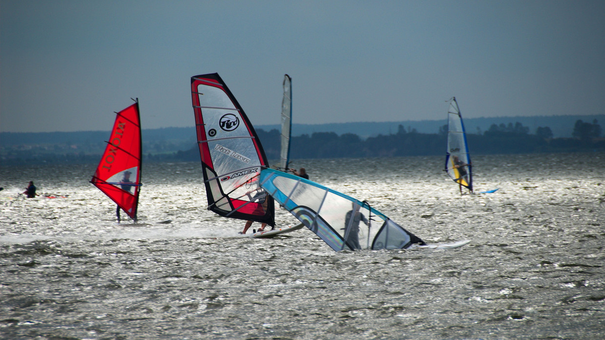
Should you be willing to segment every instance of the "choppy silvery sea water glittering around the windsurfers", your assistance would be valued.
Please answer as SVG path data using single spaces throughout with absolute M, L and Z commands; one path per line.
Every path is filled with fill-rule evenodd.
M 293 164 L 428 243 L 472 240 L 357 252 L 307 229 L 238 235 L 206 210 L 197 162 L 143 165 L 139 223 L 120 225 L 96 164 L 0 167 L 0 338 L 605 337 L 605 155 L 474 156 L 476 190 L 500 188 L 476 195 L 442 163 Z M 67 198 L 19 197 L 30 180 Z

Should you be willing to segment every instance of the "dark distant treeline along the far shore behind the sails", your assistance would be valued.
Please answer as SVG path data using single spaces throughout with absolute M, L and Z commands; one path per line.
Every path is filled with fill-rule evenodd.
M 492 124 L 483 133 L 467 133 L 469 149 L 473 155 L 546 153 L 546 152 L 591 152 L 605 151 L 605 138 L 601 138 L 601 126 L 597 120 L 587 123 L 578 120 L 572 138 L 552 138 L 549 127 L 538 127 L 529 133 L 529 127 L 521 123 Z M 268 159 L 280 158 L 280 131 L 257 130 L 258 137 Z M 311 135 L 293 136 L 290 155 L 292 159 L 349 158 L 349 157 L 392 157 L 445 154 L 447 125 L 439 127 L 437 133 L 419 133 L 406 129 L 401 124 L 396 133 L 368 137 L 365 140 L 354 133 L 314 132 Z M 186 144 L 191 145 L 191 144 Z M 28 163 L 90 163 L 98 162 L 102 151 L 96 153 L 47 150 L 32 153 L 31 150 L 12 151 L 2 155 L 2 164 Z M 143 146 L 143 161 L 178 162 L 200 161 L 198 147 L 194 144 L 186 150 L 152 153 Z

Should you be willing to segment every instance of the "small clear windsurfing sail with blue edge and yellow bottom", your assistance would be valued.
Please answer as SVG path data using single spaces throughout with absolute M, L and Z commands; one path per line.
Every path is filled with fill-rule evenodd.
M 454 182 L 468 188 L 471 193 L 473 192 L 473 165 L 471 165 L 466 132 L 456 97 L 450 99 L 450 109 L 448 109 L 448 148 L 445 156 L 445 171 Z

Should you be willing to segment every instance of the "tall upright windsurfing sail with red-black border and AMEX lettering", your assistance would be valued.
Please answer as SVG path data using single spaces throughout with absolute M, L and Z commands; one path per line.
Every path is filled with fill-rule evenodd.
M 217 73 L 191 77 L 191 97 L 208 209 L 274 226 L 273 198 L 258 181 L 269 164 L 244 110 Z

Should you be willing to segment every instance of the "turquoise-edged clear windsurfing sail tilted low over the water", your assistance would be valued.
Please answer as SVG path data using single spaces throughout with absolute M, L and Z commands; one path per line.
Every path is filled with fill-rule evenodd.
M 263 169 L 261 187 L 335 251 L 405 249 L 425 243 L 367 202 L 273 169 Z

